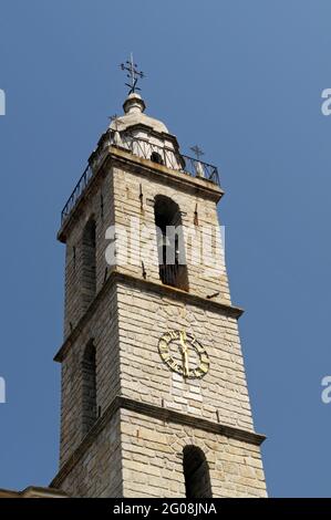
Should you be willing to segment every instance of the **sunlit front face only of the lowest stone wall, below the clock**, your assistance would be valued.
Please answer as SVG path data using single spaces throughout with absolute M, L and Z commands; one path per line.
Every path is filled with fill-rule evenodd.
M 206 456 L 213 497 L 266 497 L 258 446 L 125 409 L 121 418 L 124 497 L 185 498 L 187 445 Z

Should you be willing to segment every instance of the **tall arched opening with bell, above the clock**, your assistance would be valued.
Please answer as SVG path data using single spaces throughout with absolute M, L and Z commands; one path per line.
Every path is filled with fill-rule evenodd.
M 155 197 L 154 206 L 159 278 L 166 285 L 188 291 L 182 215 L 178 205 L 164 195 Z

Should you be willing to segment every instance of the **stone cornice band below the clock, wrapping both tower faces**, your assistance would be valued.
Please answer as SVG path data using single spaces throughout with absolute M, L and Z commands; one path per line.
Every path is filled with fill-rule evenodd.
M 236 428 L 234 426 L 214 423 L 209 419 L 204 419 L 201 417 L 187 415 L 182 412 L 176 412 L 148 403 L 142 403 L 135 399 L 131 399 L 128 397 L 117 395 L 106 408 L 103 416 L 95 423 L 89 434 L 83 438 L 80 446 L 73 451 L 66 462 L 64 462 L 55 478 L 50 483 L 51 488 L 59 488 L 61 486 L 65 477 L 74 468 L 76 462 L 82 458 L 86 449 L 89 449 L 89 447 L 94 443 L 99 434 L 108 424 L 115 413 L 118 412 L 121 408 L 127 409 L 130 412 L 135 412 L 137 414 L 145 415 L 147 417 L 152 417 L 166 423 L 180 424 L 183 426 L 189 426 L 192 428 L 201 429 L 211 434 L 241 440 L 242 443 L 252 444 L 255 446 L 260 446 L 266 439 L 265 435 L 256 434 L 255 431 L 249 431 Z

